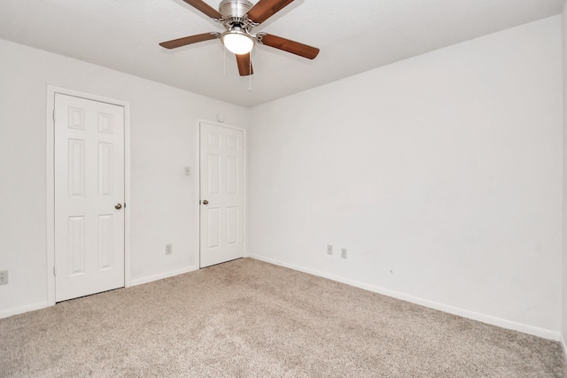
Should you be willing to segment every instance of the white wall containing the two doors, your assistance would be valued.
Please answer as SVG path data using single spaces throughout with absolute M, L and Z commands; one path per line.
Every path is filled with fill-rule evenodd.
M 196 120 L 248 123 L 236 105 L 0 40 L 0 317 L 46 305 L 48 85 L 130 103 L 134 283 L 198 266 L 198 177 L 183 172 L 197 172 Z

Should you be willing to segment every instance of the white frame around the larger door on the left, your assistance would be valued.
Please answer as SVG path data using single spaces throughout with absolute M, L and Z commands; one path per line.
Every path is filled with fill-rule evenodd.
M 130 104 L 126 101 L 111 97 L 93 95 L 74 89 L 47 86 L 47 154 L 46 154 L 46 182 L 47 182 L 47 305 L 55 305 L 55 120 L 53 109 L 55 95 L 81 97 L 86 100 L 114 104 L 124 108 L 124 286 L 131 286 L 131 228 L 130 228 Z

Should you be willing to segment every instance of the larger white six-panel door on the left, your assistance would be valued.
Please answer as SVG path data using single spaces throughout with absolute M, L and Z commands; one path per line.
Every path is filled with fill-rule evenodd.
M 124 108 L 55 95 L 55 300 L 124 286 Z

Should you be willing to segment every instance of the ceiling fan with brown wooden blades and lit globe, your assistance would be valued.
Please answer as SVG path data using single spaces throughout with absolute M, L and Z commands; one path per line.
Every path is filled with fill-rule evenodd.
M 195 7 L 198 11 L 205 13 L 211 19 L 221 23 L 226 30 L 223 33 L 211 32 L 201 35 L 190 35 L 172 41 L 161 42 L 160 46 L 166 49 L 175 49 L 191 43 L 204 42 L 221 39 L 222 44 L 237 56 L 238 73 L 248 76 L 253 73 L 250 51 L 256 43 L 263 44 L 291 52 L 299 57 L 315 59 L 319 49 L 307 46 L 307 44 L 294 42 L 289 39 L 268 35 L 268 33 L 252 34 L 252 27 L 259 26 L 266 19 L 293 0 L 260 0 L 255 5 L 248 0 L 222 0 L 219 11 L 206 4 L 203 0 L 183 0 L 185 3 Z

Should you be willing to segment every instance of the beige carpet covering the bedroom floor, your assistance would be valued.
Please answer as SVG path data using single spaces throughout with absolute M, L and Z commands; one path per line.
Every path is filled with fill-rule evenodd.
M 251 258 L 0 320 L 2 377 L 565 377 L 560 345 Z

